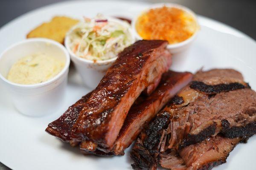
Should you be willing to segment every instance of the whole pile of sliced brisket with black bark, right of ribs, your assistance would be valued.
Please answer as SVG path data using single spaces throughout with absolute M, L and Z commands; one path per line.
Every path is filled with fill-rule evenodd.
M 189 160 L 191 156 L 186 158 L 193 146 L 205 142 L 212 145 L 220 144 L 221 149 L 227 147 L 226 151 L 229 153 L 233 149 L 230 141 L 236 144 L 241 138 L 248 138 L 255 133 L 256 93 L 243 81 L 241 74 L 232 69 L 198 71 L 193 81 L 172 98 L 140 134 L 131 151 L 131 157 L 135 161 L 133 167 L 155 169 L 161 153 L 165 155 L 164 160 L 174 158 L 169 164 L 165 161 L 165 165 L 177 164 L 177 170 L 186 169 L 192 166 L 189 162 L 194 162 Z M 216 135 L 218 137 L 214 137 Z M 173 157 L 177 154 L 180 154 L 181 158 Z M 216 161 L 220 156 L 225 159 L 227 157 L 224 153 L 214 156 Z M 210 169 L 214 165 L 210 166 L 210 159 L 206 156 L 195 158 L 195 162 L 197 159 L 204 160 L 204 164 L 209 165 L 205 169 Z M 220 160 L 219 163 L 224 162 Z M 185 164 L 182 162 L 187 167 L 183 166 Z

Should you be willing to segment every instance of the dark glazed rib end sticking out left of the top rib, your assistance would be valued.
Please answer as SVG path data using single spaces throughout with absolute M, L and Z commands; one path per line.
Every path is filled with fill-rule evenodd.
M 49 134 L 58 137 L 63 142 L 70 142 L 72 146 L 78 144 L 71 139 L 71 127 L 75 124 L 80 111 L 84 108 L 84 103 L 87 101 L 91 94 L 92 92 L 83 96 L 74 105 L 70 106 L 67 111 L 61 115 L 61 117 L 49 123 L 46 131 Z

